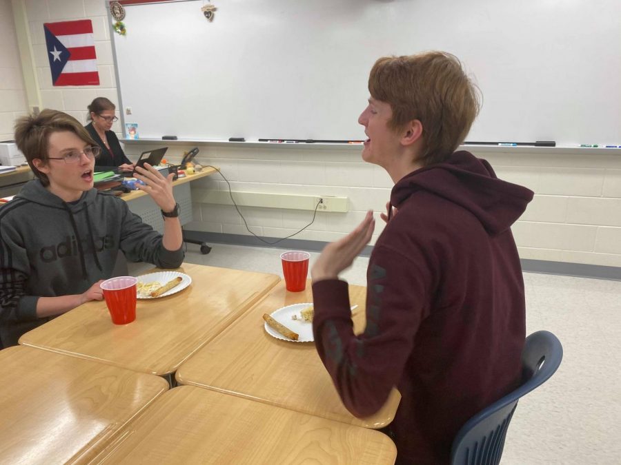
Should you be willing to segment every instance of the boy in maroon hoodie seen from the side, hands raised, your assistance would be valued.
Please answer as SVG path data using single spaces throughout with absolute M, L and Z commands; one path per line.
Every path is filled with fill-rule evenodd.
M 362 158 L 395 186 L 368 265 L 366 329 L 354 335 L 338 275 L 371 239 L 371 211 L 313 266 L 313 332 L 351 413 L 401 392 L 397 463 L 446 464 L 464 422 L 520 382 L 524 282 L 510 227 L 533 192 L 455 152 L 479 109 L 455 56 L 379 59 L 368 89 Z

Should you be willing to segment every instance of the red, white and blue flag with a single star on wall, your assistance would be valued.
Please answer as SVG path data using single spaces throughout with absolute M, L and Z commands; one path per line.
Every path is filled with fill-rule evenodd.
M 90 19 L 44 23 L 52 83 L 99 85 Z

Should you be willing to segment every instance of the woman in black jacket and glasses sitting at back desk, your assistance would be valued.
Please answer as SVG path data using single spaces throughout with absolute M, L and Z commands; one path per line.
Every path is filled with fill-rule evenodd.
M 119 119 L 115 116 L 115 108 L 115 104 L 106 97 L 97 97 L 88 105 L 88 119 L 91 122 L 86 125 L 86 130 L 101 147 L 101 155 L 95 162 L 95 169 L 119 167 L 123 171 L 130 172 L 134 169 L 134 165 L 125 156 L 117 134 L 110 130 L 112 123 Z

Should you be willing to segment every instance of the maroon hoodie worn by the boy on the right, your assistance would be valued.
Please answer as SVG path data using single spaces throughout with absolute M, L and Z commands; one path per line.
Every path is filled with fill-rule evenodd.
M 367 271 L 366 329 L 352 331 L 347 283 L 313 283 L 317 351 L 359 417 L 393 386 L 397 463 L 449 463 L 472 415 L 515 388 L 524 347 L 524 282 L 511 225 L 533 192 L 455 152 L 391 193 L 398 212 Z

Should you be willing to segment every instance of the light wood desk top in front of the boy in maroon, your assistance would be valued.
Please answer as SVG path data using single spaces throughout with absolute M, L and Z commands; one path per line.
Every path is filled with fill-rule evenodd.
M 366 321 L 366 287 L 350 286 L 354 331 Z M 177 371 L 179 384 L 249 397 L 267 404 L 340 422 L 383 428 L 393 421 L 401 400 L 393 389 L 375 415 L 356 418 L 345 409 L 315 343 L 275 339 L 264 329 L 263 314 L 286 305 L 313 302 L 311 282 L 303 292 L 288 292 L 280 282 L 261 302 L 210 341 Z

